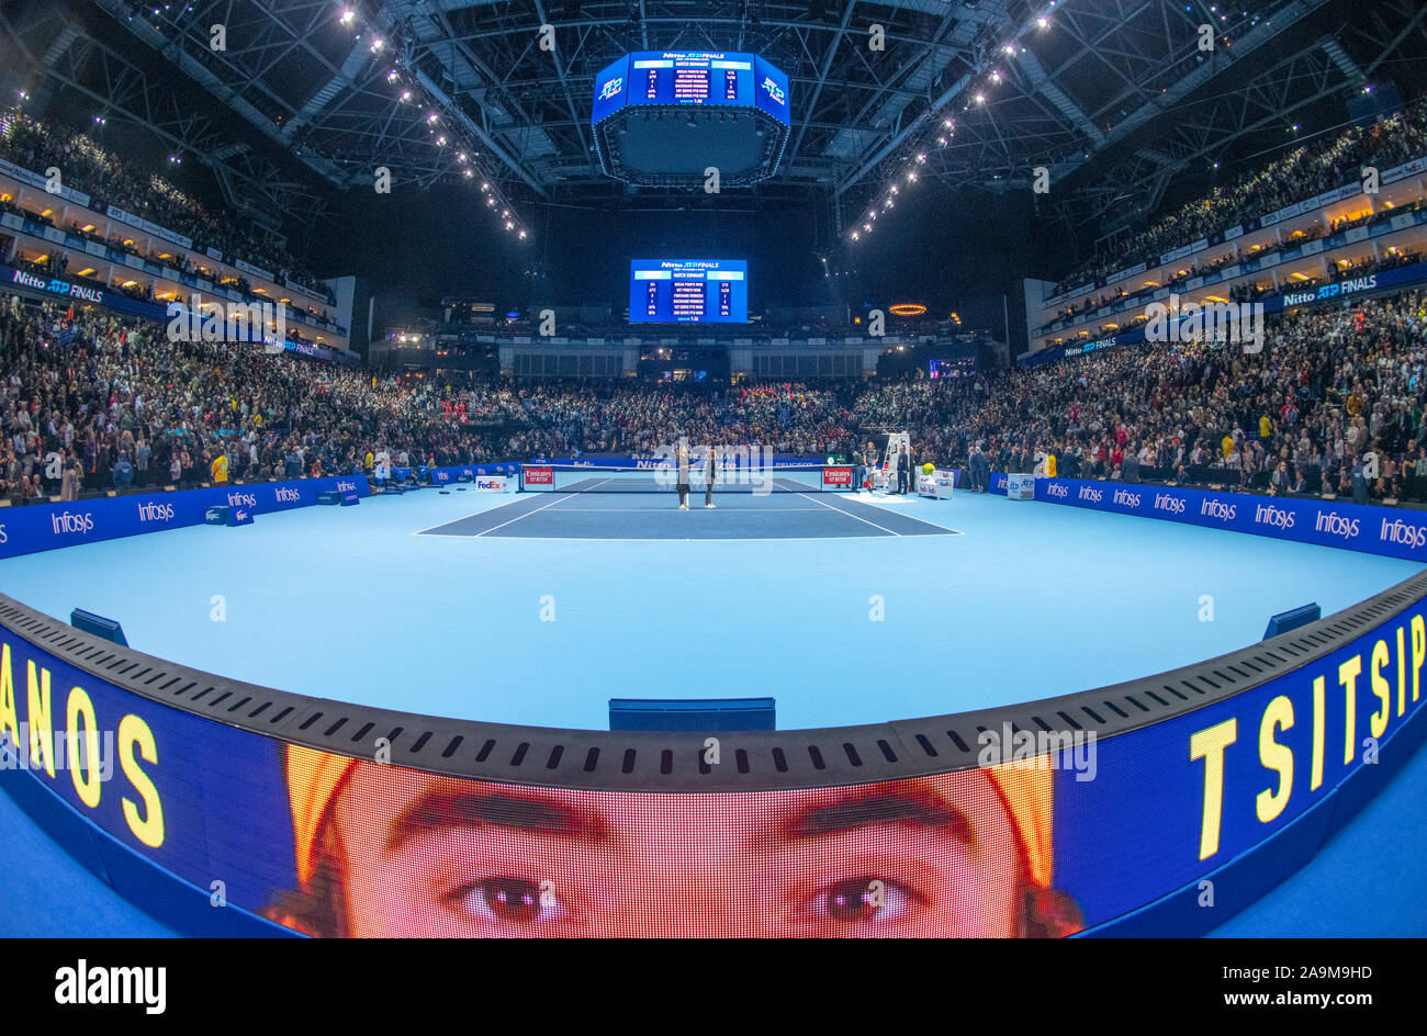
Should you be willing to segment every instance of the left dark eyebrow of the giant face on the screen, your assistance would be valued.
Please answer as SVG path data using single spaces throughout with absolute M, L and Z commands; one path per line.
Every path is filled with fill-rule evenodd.
M 505 828 L 591 845 L 609 839 L 598 812 L 544 795 L 428 792 L 392 822 L 385 850 L 395 853 L 414 838 L 455 828 Z

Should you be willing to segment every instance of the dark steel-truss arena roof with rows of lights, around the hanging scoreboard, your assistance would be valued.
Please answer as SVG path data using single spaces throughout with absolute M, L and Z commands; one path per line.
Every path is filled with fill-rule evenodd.
M 1025 190 L 1042 168 L 1066 224 L 1142 217 L 1236 141 L 1316 108 L 1341 123 L 1343 98 L 1427 40 L 1413 0 L 17 0 L 0 36 L 51 86 L 195 153 L 240 210 L 321 208 L 385 168 L 397 187 L 474 181 L 512 233 L 542 204 L 638 195 L 826 204 L 843 244 L 903 191 Z M 775 174 L 718 195 L 609 177 L 592 86 L 649 50 L 783 70 Z

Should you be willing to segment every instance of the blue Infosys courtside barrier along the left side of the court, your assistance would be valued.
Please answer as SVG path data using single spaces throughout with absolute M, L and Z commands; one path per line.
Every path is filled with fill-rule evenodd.
M 368 495 L 365 477 L 331 475 L 0 508 L 0 558 L 203 525 L 210 507 L 240 508 L 253 517 L 311 507 L 324 491 Z

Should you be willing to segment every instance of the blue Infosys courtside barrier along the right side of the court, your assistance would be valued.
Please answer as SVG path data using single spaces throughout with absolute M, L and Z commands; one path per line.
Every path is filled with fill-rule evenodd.
M 1036 499 L 1427 562 L 1421 511 L 1075 478 L 1037 478 Z

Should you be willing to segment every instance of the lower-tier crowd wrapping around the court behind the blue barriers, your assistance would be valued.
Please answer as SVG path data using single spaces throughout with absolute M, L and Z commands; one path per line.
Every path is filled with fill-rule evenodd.
M 1277 494 L 1427 499 L 1427 293 L 1271 318 L 1261 352 L 1123 347 L 976 378 L 763 381 L 468 375 L 407 384 L 54 303 L 0 305 L 0 497 L 694 444 L 850 452 L 908 431 L 918 462 Z

